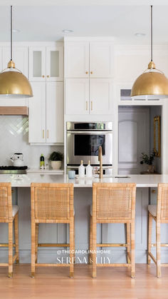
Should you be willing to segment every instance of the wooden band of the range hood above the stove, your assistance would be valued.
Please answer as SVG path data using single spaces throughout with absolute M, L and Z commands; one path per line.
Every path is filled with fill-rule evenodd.
M 1 115 L 23 115 L 28 116 L 28 107 L 26 106 L 0 106 L 0 116 Z

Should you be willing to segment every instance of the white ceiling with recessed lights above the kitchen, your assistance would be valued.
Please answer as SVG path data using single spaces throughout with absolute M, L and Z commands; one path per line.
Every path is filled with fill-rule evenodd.
M 23 6 L 23 3 L 33 5 Z M 62 5 L 52 6 L 53 3 Z M 168 1 L 152 1 L 155 5 L 154 44 L 168 44 L 168 5 L 165 3 Z M 4 4 L 17 4 L 13 8 L 13 23 L 14 29 L 21 32 L 14 34 L 14 41 L 59 41 L 67 35 L 114 36 L 118 43 L 149 44 L 148 0 L 0 0 L 0 41 L 9 41 L 10 38 L 10 9 Z M 63 29 L 74 32 L 63 34 Z M 145 33 L 146 36 L 137 38 L 136 33 Z

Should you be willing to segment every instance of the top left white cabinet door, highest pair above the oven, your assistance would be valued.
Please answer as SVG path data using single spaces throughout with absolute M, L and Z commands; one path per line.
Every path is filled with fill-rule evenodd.
M 65 44 L 65 77 L 89 77 L 89 43 L 78 41 Z

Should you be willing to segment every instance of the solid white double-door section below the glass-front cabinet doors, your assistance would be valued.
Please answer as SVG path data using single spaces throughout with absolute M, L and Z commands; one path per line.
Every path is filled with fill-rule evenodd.
M 63 143 L 63 82 L 33 82 L 29 143 Z

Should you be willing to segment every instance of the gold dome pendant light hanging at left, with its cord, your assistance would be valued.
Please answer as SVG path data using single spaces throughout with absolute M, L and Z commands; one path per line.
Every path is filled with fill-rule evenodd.
M 29 98 L 33 96 L 31 84 L 12 61 L 12 6 L 11 6 L 11 60 L 8 68 L 0 73 L 0 96 Z

